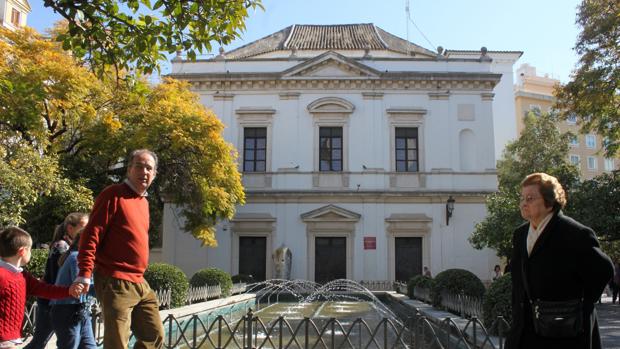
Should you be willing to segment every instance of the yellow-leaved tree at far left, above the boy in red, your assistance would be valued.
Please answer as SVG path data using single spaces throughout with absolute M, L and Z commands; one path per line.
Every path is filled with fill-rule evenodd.
M 0 30 L 0 225 L 22 225 L 35 241 L 92 205 L 92 192 L 58 165 L 76 146 L 78 125 L 91 122 L 90 96 L 98 95 L 75 64 L 30 29 Z

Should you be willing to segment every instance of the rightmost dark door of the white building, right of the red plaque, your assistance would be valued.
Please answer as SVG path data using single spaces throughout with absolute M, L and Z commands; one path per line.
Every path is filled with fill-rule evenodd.
M 396 250 L 396 280 L 409 281 L 412 276 L 422 274 L 422 238 L 394 238 Z

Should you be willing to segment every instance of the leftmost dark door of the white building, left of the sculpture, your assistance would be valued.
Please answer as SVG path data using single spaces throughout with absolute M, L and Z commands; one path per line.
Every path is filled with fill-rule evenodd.
M 267 269 L 267 238 L 264 236 L 239 237 L 239 274 L 252 275 L 264 281 Z

